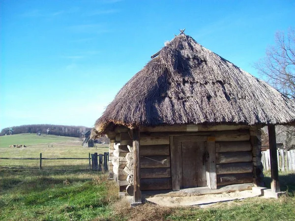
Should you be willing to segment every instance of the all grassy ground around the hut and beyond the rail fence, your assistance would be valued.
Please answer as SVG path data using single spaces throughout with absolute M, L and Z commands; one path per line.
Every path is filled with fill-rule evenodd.
M 33 136 L 33 135 L 30 135 Z M 72 156 L 88 152 L 104 152 L 107 148 L 83 148 L 76 138 L 28 136 L 27 149 L 8 148 L 16 142 L 0 137 L 0 154 L 20 157 L 46 153 Z M 21 137 L 21 135 L 20 135 Z M 21 137 L 24 138 L 24 137 Z M 59 139 L 59 140 L 58 140 Z M 64 139 L 64 140 L 62 140 Z M 3 142 L 2 142 L 3 141 Z M 3 145 L 3 143 L 6 145 Z M 53 147 L 48 147 L 53 143 Z M 75 145 L 73 143 L 76 143 Z M 11 143 L 14 144 L 14 143 Z M 22 144 L 17 142 L 15 144 Z M 17 152 L 19 151 L 19 152 Z M 30 155 L 31 156 L 31 155 Z M 1 165 L 7 164 L 2 160 Z M 56 168 L 65 168 L 64 162 L 54 162 Z M 87 165 L 88 162 L 85 162 Z M 30 164 L 30 163 L 29 163 Z M 82 166 L 72 161 L 70 166 Z M 49 165 L 50 167 L 50 165 Z M 270 187 L 269 171 L 265 173 L 266 186 Z M 276 199 L 248 198 L 243 201 L 217 203 L 206 209 L 198 207 L 168 208 L 144 204 L 136 208 L 118 199 L 118 187 L 107 180 L 102 172 L 89 170 L 38 170 L 0 169 L 0 220 L 2 221 L 281 221 L 295 220 L 295 173 L 280 173 L 281 190 L 288 195 Z

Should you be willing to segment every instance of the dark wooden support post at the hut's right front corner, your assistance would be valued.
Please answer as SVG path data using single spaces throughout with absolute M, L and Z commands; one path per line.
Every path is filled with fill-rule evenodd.
M 275 138 L 275 126 L 268 126 L 270 171 L 271 171 L 271 190 L 274 193 L 280 192 L 278 158 Z

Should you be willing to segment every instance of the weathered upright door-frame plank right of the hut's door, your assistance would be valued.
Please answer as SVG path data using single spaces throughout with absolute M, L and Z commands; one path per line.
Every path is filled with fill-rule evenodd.
M 216 142 L 215 137 L 207 138 L 207 152 L 208 158 L 208 187 L 210 189 L 217 188 L 217 177 L 216 177 Z

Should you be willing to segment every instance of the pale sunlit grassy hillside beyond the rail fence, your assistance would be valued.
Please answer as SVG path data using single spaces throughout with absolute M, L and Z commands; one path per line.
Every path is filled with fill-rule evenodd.
M 27 147 L 9 147 L 25 144 Z M 54 135 L 18 134 L 0 137 L 0 156 L 7 158 L 88 158 L 89 153 L 108 152 L 107 145 L 97 144 L 97 148 L 84 148 L 81 138 Z M 39 160 L 0 160 L 0 166 L 38 167 Z M 44 169 L 87 169 L 88 160 L 43 160 Z

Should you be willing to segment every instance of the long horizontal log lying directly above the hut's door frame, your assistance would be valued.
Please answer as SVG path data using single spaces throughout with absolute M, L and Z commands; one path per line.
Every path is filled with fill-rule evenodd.
M 156 133 L 142 133 L 141 138 L 167 138 L 169 136 L 174 137 L 189 137 L 189 136 L 199 136 L 199 140 L 207 140 L 207 137 L 215 137 L 215 141 L 246 141 L 250 139 L 250 133 L 248 130 L 239 131 L 207 131 L 207 132 L 156 132 Z M 201 138 L 204 136 L 204 138 Z M 197 139 L 197 138 L 195 138 Z M 164 141 L 163 141 L 164 142 Z M 167 142 L 167 141 L 166 141 Z M 156 145 L 157 143 L 152 143 L 151 145 Z M 158 144 L 168 144 L 168 143 L 158 143 Z M 144 144 L 149 145 L 149 144 Z

